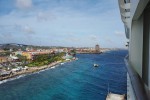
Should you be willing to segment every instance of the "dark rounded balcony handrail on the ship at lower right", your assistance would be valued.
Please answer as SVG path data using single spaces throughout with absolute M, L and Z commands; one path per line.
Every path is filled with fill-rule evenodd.
M 125 57 L 125 63 L 126 63 L 127 71 L 129 73 L 129 77 L 131 80 L 131 84 L 133 87 L 136 100 L 150 100 L 150 98 L 146 93 L 144 83 L 141 77 L 139 76 L 139 74 L 130 65 L 128 61 L 128 56 Z

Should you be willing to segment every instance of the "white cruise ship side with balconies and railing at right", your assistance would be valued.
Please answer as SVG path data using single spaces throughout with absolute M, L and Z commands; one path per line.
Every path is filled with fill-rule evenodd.
M 127 100 L 150 100 L 150 0 L 118 0 L 128 41 Z

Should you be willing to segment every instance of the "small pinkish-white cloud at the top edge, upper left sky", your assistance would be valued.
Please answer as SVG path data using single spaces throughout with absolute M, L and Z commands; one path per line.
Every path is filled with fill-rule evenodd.
M 16 6 L 19 9 L 29 9 L 32 7 L 32 0 L 16 0 Z

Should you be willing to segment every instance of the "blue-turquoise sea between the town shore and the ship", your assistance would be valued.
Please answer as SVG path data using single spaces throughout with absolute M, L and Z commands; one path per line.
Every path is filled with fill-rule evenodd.
M 108 87 L 126 94 L 126 54 L 77 54 L 76 61 L 0 84 L 0 100 L 105 100 Z

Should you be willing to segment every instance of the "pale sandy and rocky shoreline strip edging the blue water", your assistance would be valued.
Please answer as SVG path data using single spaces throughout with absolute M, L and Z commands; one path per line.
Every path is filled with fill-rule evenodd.
M 70 61 L 73 61 L 73 60 L 70 60 Z M 13 73 L 9 76 L 0 77 L 0 84 L 6 82 L 7 80 L 13 80 L 13 78 L 17 79 L 18 77 L 20 77 L 22 75 L 26 76 L 28 74 L 40 72 L 44 69 L 53 68 L 56 65 L 60 65 L 61 63 L 70 62 L 70 61 L 64 61 L 64 62 L 57 61 L 57 62 L 53 62 L 53 63 L 50 63 L 48 65 L 44 65 L 44 66 L 41 66 L 41 67 L 36 67 L 36 66 L 35 67 L 29 67 L 28 70 L 22 70 L 20 72 Z

